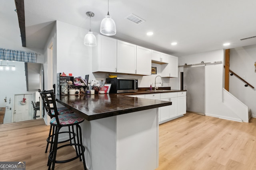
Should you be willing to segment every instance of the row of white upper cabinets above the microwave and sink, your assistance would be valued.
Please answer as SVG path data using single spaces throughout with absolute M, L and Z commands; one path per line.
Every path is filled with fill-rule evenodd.
M 92 47 L 92 72 L 151 75 L 151 63 L 161 64 L 162 77 L 178 77 L 178 57 L 97 35 Z

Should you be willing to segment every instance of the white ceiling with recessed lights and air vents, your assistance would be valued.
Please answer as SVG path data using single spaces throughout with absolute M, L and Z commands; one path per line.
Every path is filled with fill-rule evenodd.
M 89 30 L 91 11 L 91 30 L 99 33 L 108 0 L 24 0 L 24 7 L 27 47 L 42 49 L 55 20 Z M 112 37 L 174 56 L 256 44 L 256 38 L 240 41 L 256 35 L 255 9 L 255 0 L 109 0 Z M 125 19 L 130 14 L 146 22 Z

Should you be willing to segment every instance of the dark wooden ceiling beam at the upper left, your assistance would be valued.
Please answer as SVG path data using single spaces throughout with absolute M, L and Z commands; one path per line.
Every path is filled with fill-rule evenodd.
M 15 0 L 15 5 L 19 20 L 22 47 L 26 47 L 24 0 Z

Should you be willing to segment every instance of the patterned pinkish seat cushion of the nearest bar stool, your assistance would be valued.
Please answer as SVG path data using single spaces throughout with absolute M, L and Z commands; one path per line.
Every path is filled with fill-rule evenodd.
M 67 113 L 63 115 L 58 115 L 60 125 L 70 125 L 73 123 L 79 123 L 81 121 L 84 121 L 84 118 L 79 116 L 76 113 Z M 51 123 L 57 125 L 56 118 L 52 117 Z

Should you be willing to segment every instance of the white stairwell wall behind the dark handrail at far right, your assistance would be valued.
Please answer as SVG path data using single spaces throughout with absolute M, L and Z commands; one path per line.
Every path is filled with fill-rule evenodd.
M 252 117 L 256 117 L 255 62 L 256 45 L 230 49 L 230 70 L 234 71 L 240 77 L 245 76 L 245 80 L 254 86 L 254 89 L 250 86 L 245 87 L 245 83 L 235 76 L 229 76 L 229 91 L 251 109 Z

